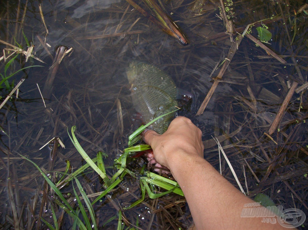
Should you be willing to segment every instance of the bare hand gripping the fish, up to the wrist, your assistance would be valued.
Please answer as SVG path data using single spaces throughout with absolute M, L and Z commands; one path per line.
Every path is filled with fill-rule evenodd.
M 203 158 L 201 136 L 201 130 L 190 119 L 182 116 L 175 118 L 162 135 L 153 130 L 143 134 L 144 141 L 152 147 L 156 161 L 171 172 L 172 165 L 181 161 L 183 156 Z

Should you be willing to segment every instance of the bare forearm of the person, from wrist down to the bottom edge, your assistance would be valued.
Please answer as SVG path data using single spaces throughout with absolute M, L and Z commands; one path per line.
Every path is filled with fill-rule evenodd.
M 253 201 L 222 177 L 204 159 L 180 154 L 170 170 L 182 188 L 197 229 L 282 229 L 261 223 L 262 218 L 241 218 L 246 203 Z

